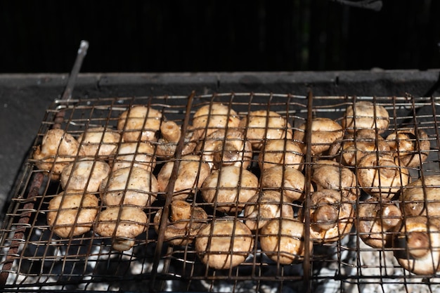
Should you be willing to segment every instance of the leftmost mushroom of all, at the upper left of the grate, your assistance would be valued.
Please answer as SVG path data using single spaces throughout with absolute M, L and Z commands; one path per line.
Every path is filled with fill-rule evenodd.
M 53 173 L 58 179 L 63 168 L 75 160 L 79 152 L 79 143 L 63 129 L 49 129 L 43 136 L 41 145 L 34 150 L 33 158 L 37 160 L 37 168 Z

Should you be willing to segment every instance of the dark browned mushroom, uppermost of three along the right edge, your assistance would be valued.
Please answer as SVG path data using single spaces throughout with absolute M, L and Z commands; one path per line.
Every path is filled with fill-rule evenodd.
M 398 157 L 401 166 L 420 167 L 429 155 L 431 143 L 428 135 L 422 129 L 399 129 L 387 136 L 389 148 L 394 151 L 394 156 Z

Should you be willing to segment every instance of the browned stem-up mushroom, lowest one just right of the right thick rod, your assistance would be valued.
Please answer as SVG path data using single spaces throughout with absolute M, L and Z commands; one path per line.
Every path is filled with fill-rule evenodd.
M 310 201 L 310 237 L 313 242 L 335 242 L 350 233 L 354 209 L 349 202 L 344 202 L 340 192 L 331 189 L 315 191 L 311 193 Z M 299 216 L 304 219 L 304 214 Z

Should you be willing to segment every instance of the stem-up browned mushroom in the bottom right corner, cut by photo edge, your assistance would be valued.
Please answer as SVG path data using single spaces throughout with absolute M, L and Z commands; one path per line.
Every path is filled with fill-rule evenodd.
M 394 256 L 399 264 L 417 275 L 433 275 L 440 268 L 440 220 L 408 217 L 395 237 Z

